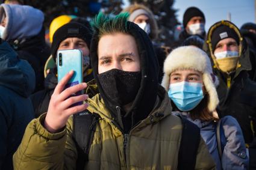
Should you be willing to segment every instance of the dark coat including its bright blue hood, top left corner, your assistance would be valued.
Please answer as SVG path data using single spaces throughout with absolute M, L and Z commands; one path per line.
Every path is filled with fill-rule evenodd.
M 2 38 L 11 44 L 20 59 L 27 60 L 33 67 L 36 74 L 34 92 L 42 90 L 43 66 L 50 55 L 49 46 L 45 43 L 43 12 L 28 5 L 1 4 L 0 20 L 4 16 L 7 25 Z

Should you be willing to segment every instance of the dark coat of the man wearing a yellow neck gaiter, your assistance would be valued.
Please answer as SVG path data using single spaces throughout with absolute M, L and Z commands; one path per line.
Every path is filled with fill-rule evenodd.
M 244 43 L 245 41 L 243 41 Z M 207 43 L 204 44 L 204 50 L 213 58 L 208 45 Z M 219 117 L 231 115 L 236 118 L 242 129 L 245 142 L 250 144 L 254 139 L 256 130 L 256 83 L 248 76 L 251 62 L 249 49 L 245 47 L 242 45 L 242 54 L 239 58 L 240 67 L 236 71 L 229 75 L 215 67 L 213 71 L 220 82 L 219 87 L 217 87 L 220 100 L 219 106 L 217 106 Z M 231 80 L 230 87 L 228 87 L 229 80 Z

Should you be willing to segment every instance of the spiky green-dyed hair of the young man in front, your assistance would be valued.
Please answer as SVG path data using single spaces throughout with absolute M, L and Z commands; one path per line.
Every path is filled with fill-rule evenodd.
M 98 38 L 106 34 L 124 33 L 128 34 L 127 19 L 129 13 L 120 13 L 115 17 L 100 12 L 90 23 L 93 31 L 97 32 Z

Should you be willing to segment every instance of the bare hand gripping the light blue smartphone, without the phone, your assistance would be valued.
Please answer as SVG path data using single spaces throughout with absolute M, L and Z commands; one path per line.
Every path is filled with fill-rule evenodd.
M 73 93 L 84 90 L 87 87 L 86 83 L 80 83 L 73 87 L 66 87 L 67 82 L 73 76 L 73 71 L 70 71 L 60 80 L 57 87 L 52 94 L 48 112 L 45 117 L 45 122 L 43 126 L 46 130 L 51 133 L 60 132 L 64 126 L 66 126 L 67 120 L 70 115 L 76 114 L 77 112 L 84 111 L 89 105 L 84 103 L 82 105 L 72 106 L 75 103 L 83 102 L 88 99 L 87 94 L 82 94 L 80 96 L 71 96 Z

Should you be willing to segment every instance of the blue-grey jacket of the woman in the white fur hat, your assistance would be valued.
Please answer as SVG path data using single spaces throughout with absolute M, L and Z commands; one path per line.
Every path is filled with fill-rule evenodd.
M 181 115 L 199 127 L 201 136 L 204 139 L 218 170 L 246 170 L 249 168 L 249 158 L 246 156 L 245 140 L 243 139 L 242 130 L 236 119 L 231 116 L 226 116 L 219 120 L 221 121 L 223 135 L 225 136 L 225 139 L 222 140 L 226 141 L 220 159 L 217 148 L 216 122 L 201 121 L 198 119 L 192 120 L 187 112 L 172 112 L 172 114 Z

